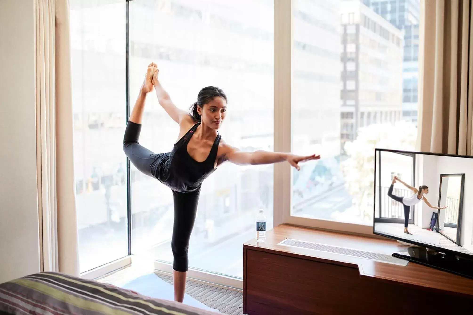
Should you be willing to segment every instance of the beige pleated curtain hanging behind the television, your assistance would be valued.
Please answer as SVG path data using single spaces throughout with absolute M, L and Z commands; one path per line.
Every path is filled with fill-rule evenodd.
M 472 155 L 472 0 L 421 0 L 417 150 Z

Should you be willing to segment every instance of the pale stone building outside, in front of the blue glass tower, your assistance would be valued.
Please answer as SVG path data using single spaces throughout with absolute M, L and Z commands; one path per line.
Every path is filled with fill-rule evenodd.
M 402 119 L 403 33 L 360 1 L 341 3 L 341 144 L 358 129 Z

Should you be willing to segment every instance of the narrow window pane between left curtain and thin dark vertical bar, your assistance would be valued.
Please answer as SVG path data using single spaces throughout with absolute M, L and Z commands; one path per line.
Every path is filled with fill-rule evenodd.
M 70 1 L 80 272 L 128 254 L 125 26 L 125 1 Z

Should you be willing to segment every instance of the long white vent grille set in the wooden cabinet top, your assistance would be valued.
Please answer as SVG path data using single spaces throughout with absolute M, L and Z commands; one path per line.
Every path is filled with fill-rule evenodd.
M 280 242 L 278 245 L 313 249 L 313 250 L 318 250 L 318 251 L 326 252 L 326 253 L 365 258 L 365 259 L 370 259 L 370 260 L 387 263 L 387 264 L 397 264 L 400 266 L 407 266 L 408 264 L 407 260 L 396 258 L 391 255 L 372 253 L 372 252 L 367 252 L 363 250 L 301 241 L 301 240 L 292 239 L 292 238 L 286 238 L 285 240 Z

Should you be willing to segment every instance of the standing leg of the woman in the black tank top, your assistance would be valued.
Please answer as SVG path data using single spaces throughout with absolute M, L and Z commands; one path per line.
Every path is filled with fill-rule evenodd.
M 189 269 L 187 251 L 194 227 L 200 189 L 190 193 L 173 191 L 174 224 L 171 249 L 173 251 L 174 299 L 184 301 L 185 280 Z

